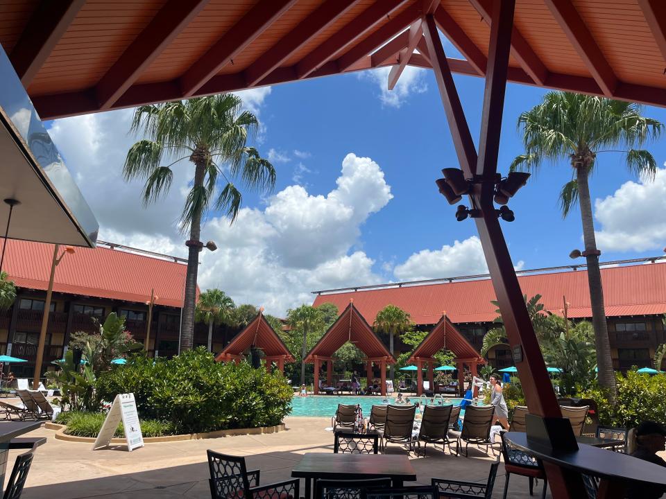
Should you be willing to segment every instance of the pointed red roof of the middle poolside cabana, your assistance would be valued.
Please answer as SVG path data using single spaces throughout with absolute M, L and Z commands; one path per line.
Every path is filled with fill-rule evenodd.
M 317 344 L 312 347 L 305 357 L 305 362 L 314 362 L 314 356 L 331 358 L 346 342 L 355 344 L 368 358 L 385 358 L 388 364 L 395 363 L 391 352 L 388 351 L 382 340 L 379 340 L 375 331 L 352 302 L 348 304 L 347 308 L 343 310 L 340 317 L 330 326 Z

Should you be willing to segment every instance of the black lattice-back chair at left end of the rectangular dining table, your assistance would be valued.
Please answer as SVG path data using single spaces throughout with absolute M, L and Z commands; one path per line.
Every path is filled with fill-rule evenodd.
M 298 478 L 259 486 L 259 470 L 248 471 L 245 457 L 220 454 L 210 449 L 206 450 L 206 453 L 212 499 L 298 498 Z

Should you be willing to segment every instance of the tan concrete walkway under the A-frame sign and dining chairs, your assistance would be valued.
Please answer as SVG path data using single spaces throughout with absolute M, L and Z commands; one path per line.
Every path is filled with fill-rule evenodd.
M 333 435 L 324 429 L 330 425 L 327 418 L 291 417 L 286 422 L 287 431 L 271 435 L 146 444 L 131 453 L 122 446 L 93 451 L 92 444 L 56 440 L 53 430 L 41 428 L 26 435 L 47 437 L 48 441 L 35 454 L 23 498 L 210 498 L 208 448 L 247 456 L 248 468 L 261 470 L 262 484 L 287 480 L 304 453 L 332 453 Z M 407 454 L 407 451 L 389 444 L 387 453 Z M 7 477 L 17 454 L 10 453 Z M 484 483 L 494 458 L 471 446 L 470 457 L 456 457 L 429 446 L 426 458 L 411 454 L 411 459 L 418 483 L 429 484 L 432 477 Z M 536 488 L 537 497 L 542 483 Z M 501 498 L 503 488 L 502 464 L 493 498 Z M 301 481 L 301 494 L 302 489 Z M 529 497 L 527 478 L 511 477 L 509 497 Z

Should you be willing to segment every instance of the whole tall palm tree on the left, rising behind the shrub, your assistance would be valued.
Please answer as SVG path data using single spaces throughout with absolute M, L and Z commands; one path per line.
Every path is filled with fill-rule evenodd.
M 233 180 L 248 189 L 269 191 L 275 185 L 275 169 L 259 152 L 246 146 L 257 130 L 257 118 L 242 110 L 233 94 L 193 98 L 137 107 L 131 131 L 144 139 L 127 153 L 125 180 L 145 180 L 144 204 L 166 195 L 173 182 L 173 167 L 189 160 L 194 177 L 180 215 L 180 231 L 189 229 L 185 300 L 182 308 L 180 349 L 192 347 L 194 302 L 201 222 L 210 208 L 223 211 L 233 222 L 241 207 L 241 192 Z M 214 196 L 216 196 L 215 199 Z

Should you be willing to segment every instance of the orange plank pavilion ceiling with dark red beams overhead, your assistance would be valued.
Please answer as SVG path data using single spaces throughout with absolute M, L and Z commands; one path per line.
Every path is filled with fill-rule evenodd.
M 490 0 L 0 0 L 0 44 L 42 119 L 373 67 L 429 67 L 434 12 L 483 76 Z M 666 106 L 666 1 L 517 0 L 509 80 Z

